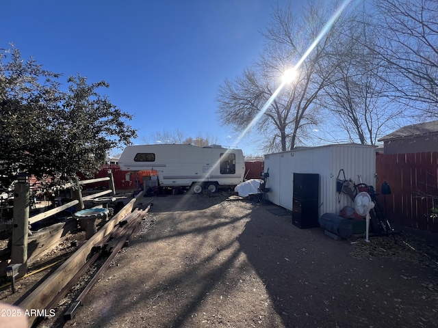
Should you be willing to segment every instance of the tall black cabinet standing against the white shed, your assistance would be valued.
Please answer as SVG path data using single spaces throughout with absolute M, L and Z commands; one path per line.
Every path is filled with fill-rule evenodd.
M 292 223 L 300 229 L 316 228 L 320 175 L 294 173 Z

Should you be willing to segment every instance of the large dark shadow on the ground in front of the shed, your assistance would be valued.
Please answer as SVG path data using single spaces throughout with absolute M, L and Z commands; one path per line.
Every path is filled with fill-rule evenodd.
M 354 258 L 350 242 L 335 241 L 320 228 L 300 230 L 292 216 L 272 215 L 273 208 L 260 204 L 238 241 L 285 327 L 433 324 L 438 282 L 432 268 L 390 255 Z

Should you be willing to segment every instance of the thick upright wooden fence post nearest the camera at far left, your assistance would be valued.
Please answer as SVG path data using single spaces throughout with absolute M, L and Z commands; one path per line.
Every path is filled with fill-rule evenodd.
M 27 234 L 29 232 L 30 184 L 28 176 L 18 176 L 14 189 L 11 263 L 21 264 L 18 277 L 27 273 Z

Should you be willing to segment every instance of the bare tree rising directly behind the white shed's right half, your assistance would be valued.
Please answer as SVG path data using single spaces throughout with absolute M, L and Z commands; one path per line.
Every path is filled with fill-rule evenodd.
M 400 126 L 408 111 L 387 96 L 390 85 L 382 79 L 387 76 L 385 62 L 375 51 L 376 31 L 367 17 L 365 10 L 357 11 L 339 27 L 332 46 L 337 69 L 319 100 L 335 114 L 331 126 L 337 126 L 348 141 L 374 145 L 388 129 Z

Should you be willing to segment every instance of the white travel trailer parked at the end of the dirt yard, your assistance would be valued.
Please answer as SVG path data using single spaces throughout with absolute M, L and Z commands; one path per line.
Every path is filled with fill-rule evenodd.
M 219 186 L 235 186 L 244 179 L 244 155 L 240 149 L 212 145 L 158 144 L 128 146 L 118 160 L 120 169 L 158 172 L 159 187 L 190 187 L 216 192 Z

